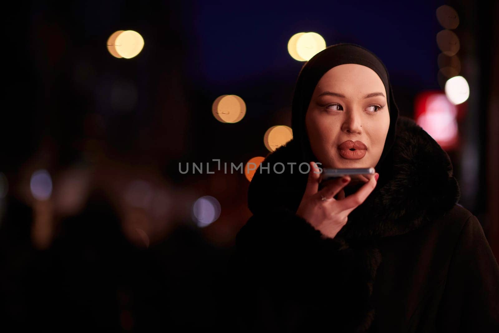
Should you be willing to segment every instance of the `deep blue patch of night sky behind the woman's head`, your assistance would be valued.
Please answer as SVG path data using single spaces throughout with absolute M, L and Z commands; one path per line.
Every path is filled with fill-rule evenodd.
M 436 33 L 442 29 L 437 1 L 199 1 L 185 19 L 195 39 L 189 43 L 190 74 L 206 85 L 230 87 L 262 76 L 295 79 L 302 65 L 287 52 L 296 32 L 321 34 L 326 45 L 359 43 L 386 64 L 395 84 L 438 88 Z M 337 3 L 335 3 L 337 2 Z M 390 3 L 393 2 L 393 3 Z

